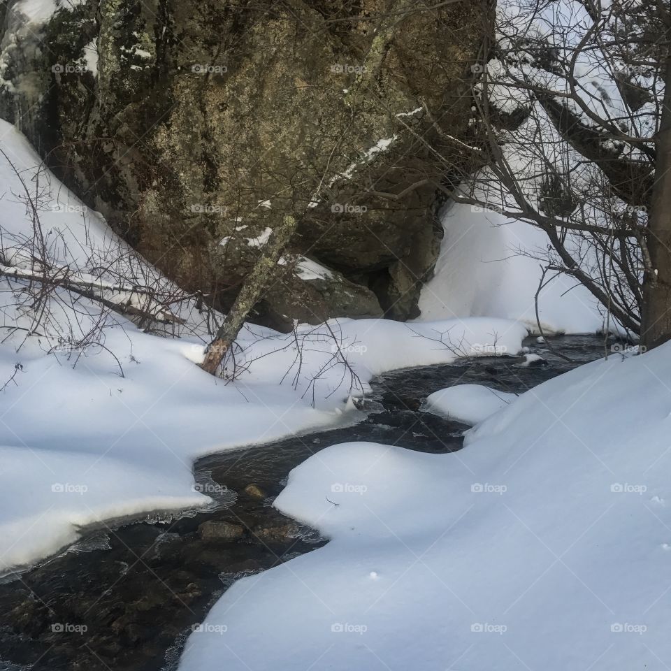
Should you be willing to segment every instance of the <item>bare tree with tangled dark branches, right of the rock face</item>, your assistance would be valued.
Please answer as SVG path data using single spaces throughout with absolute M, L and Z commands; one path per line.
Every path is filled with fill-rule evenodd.
M 489 34 L 475 90 L 488 166 L 454 199 L 542 229 L 546 272 L 584 284 L 645 347 L 661 344 L 671 338 L 665 6 L 509 1 Z

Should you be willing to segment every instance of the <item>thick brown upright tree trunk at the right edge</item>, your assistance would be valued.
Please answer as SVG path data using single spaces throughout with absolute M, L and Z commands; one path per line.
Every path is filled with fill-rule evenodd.
M 647 349 L 671 339 L 671 51 L 666 59 L 664 85 L 646 234 L 649 264 L 643 280 L 641 345 Z

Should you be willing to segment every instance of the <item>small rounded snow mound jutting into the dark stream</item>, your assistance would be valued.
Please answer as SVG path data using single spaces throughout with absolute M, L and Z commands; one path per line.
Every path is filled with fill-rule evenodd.
M 507 394 L 480 384 L 456 384 L 430 394 L 424 410 L 463 424 L 478 424 L 516 398 L 517 394 Z

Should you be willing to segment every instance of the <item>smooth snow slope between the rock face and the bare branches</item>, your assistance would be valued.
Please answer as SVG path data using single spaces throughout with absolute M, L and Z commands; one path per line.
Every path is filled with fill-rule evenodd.
M 542 269 L 533 256 L 547 248 L 545 233 L 461 203 L 444 208 L 441 220 L 445 233 L 434 276 L 421 289 L 421 319 L 488 315 L 519 319 L 537 330 L 535 293 Z M 596 299 L 565 275 L 542 289 L 538 308 L 544 331 L 603 329 Z

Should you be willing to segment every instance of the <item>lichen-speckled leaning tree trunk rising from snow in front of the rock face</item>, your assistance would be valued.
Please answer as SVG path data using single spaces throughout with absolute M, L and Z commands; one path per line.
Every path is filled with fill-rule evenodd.
M 207 370 L 211 375 L 217 372 L 226 352 L 231 347 L 231 342 L 236 339 L 238 332 L 243 328 L 250 310 L 259 302 L 273 280 L 277 270 L 277 261 L 287 248 L 291 236 L 296 231 L 296 226 L 294 217 L 287 215 L 282 219 L 282 223 L 273 231 L 273 237 L 264 248 L 264 253 L 261 254 L 252 272 L 245 279 L 236 302 L 233 303 L 224 322 L 219 326 L 215 339 L 205 350 L 205 359 L 201 363 L 201 368 Z

